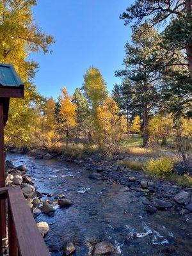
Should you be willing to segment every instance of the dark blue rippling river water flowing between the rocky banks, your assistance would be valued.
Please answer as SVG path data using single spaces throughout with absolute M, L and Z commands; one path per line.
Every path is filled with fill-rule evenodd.
M 37 222 L 49 224 L 47 245 L 62 246 L 63 237 L 67 237 L 76 245 L 74 255 L 83 256 L 88 255 L 89 241 L 97 238 L 110 241 L 124 256 L 162 255 L 167 244 L 177 248 L 174 255 L 192 255 L 191 221 L 177 212 L 157 211 L 148 215 L 142 204 L 144 197 L 108 180 L 88 179 L 90 172 L 76 165 L 19 154 L 8 154 L 6 159 L 15 166 L 26 165 L 36 189 L 54 194 L 49 200 L 64 194 L 73 202 L 68 208 L 55 206 L 52 216 L 41 213 L 36 218 Z

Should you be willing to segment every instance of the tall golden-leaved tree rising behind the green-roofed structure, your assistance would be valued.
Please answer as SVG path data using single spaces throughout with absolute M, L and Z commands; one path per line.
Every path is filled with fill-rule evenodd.
M 46 53 L 54 42 L 52 36 L 42 33 L 35 24 L 31 12 L 35 5 L 35 0 L 0 1 L 0 62 L 12 63 L 25 84 L 24 100 L 13 99 L 10 102 L 5 130 L 6 143 L 17 147 L 31 144 L 35 118 L 38 118 L 34 106 L 42 100 L 30 83 L 38 64 L 29 61 L 29 54 L 41 49 Z

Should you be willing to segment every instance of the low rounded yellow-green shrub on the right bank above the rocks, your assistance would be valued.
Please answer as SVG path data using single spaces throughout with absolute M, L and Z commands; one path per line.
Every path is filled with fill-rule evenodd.
M 150 159 L 144 164 L 144 170 L 157 176 L 170 174 L 173 170 L 173 160 L 170 157 Z

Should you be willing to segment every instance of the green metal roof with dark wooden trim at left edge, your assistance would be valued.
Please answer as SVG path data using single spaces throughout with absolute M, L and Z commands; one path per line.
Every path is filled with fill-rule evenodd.
M 24 87 L 12 64 L 0 63 L 0 86 Z

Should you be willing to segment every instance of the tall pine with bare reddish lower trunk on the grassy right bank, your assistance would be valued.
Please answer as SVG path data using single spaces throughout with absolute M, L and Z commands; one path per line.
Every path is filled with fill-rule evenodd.
M 124 70 L 116 71 L 131 83 L 132 107 L 141 111 L 143 120 L 143 147 L 148 144 L 148 118 L 150 111 L 157 109 L 161 90 L 161 70 L 159 69 L 159 35 L 147 23 L 136 28 L 132 34 L 132 44 L 125 45 Z M 142 33 L 146 31 L 147 33 Z

